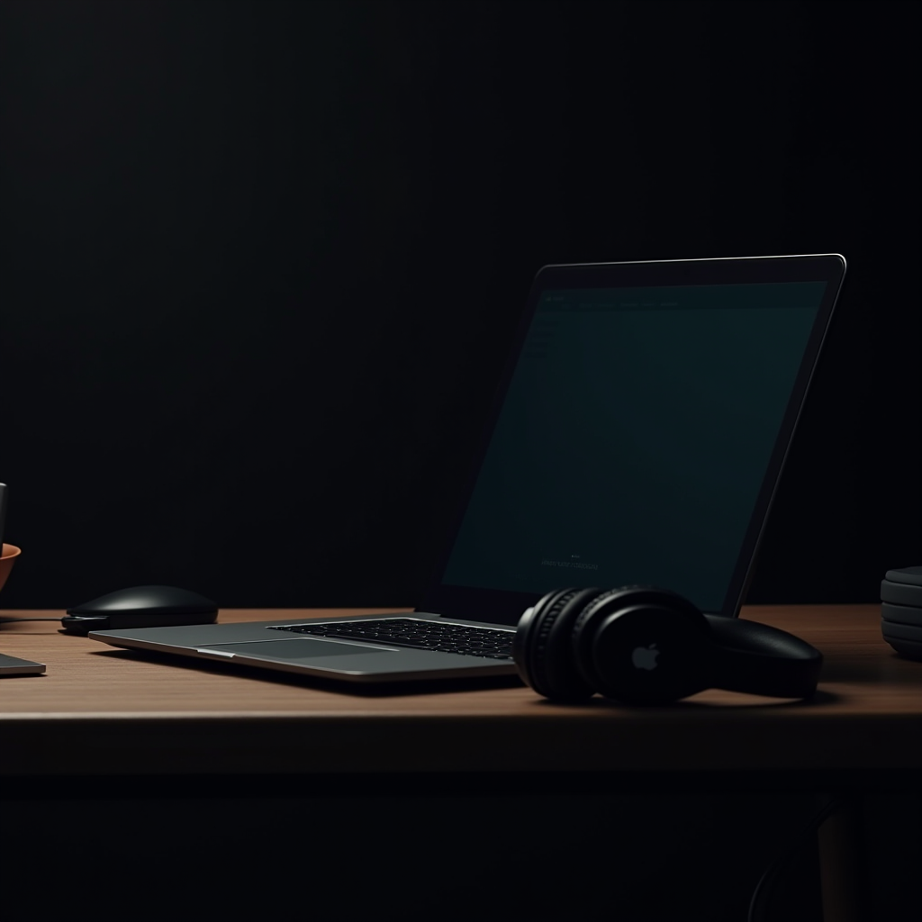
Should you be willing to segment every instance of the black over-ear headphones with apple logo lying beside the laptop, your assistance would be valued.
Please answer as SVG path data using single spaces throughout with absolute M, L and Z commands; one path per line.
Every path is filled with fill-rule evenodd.
M 704 689 L 809 698 L 822 653 L 793 634 L 704 615 L 666 589 L 557 589 L 519 620 L 519 675 L 552 701 L 596 692 L 626 704 L 665 704 Z

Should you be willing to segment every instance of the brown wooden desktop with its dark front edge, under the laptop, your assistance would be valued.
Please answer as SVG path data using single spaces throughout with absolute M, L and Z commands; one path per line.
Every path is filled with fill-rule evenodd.
M 359 612 L 233 609 L 219 620 Z M 0 651 L 48 669 L 0 680 L 0 774 L 922 769 L 922 663 L 882 640 L 878 606 L 751 607 L 743 617 L 822 650 L 813 702 L 705 691 L 655 709 L 559 705 L 525 687 L 369 695 L 149 658 L 62 635 L 53 621 L 5 623 Z

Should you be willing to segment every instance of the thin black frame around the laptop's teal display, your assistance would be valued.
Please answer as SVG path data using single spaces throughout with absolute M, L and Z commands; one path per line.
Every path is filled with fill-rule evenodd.
M 751 582 L 756 551 L 771 510 L 777 485 L 784 470 L 788 449 L 797 428 L 800 411 L 810 388 L 822 344 L 833 317 L 833 309 L 845 276 L 845 257 L 840 254 L 806 254 L 797 256 L 752 256 L 727 259 L 689 259 L 629 263 L 585 263 L 569 266 L 544 266 L 531 285 L 526 309 L 515 329 L 502 375 L 491 403 L 467 484 L 458 504 L 457 512 L 448 532 L 441 556 L 436 563 L 434 576 L 423 604 L 417 609 L 445 617 L 514 625 L 521 613 L 534 605 L 541 593 L 507 592 L 497 589 L 443 584 L 458 531 L 461 528 L 477 483 L 484 455 L 502 410 L 503 399 L 512 381 L 515 366 L 525 341 L 541 292 L 561 289 L 619 289 L 670 285 L 739 285 L 773 282 L 826 283 L 822 303 L 814 319 L 810 337 L 784 419 L 778 431 L 758 498 L 753 507 L 739 557 L 730 579 L 727 595 L 719 611 L 713 614 L 736 617 Z M 601 588 L 610 588 L 602 586 Z M 662 588 L 668 588 L 663 586 Z

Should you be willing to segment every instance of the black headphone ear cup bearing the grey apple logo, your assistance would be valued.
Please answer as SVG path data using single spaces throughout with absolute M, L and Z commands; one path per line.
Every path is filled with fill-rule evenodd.
M 601 594 L 574 622 L 571 644 L 584 680 L 623 703 L 668 703 L 709 686 L 710 625 L 668 590 L 625 586 Z

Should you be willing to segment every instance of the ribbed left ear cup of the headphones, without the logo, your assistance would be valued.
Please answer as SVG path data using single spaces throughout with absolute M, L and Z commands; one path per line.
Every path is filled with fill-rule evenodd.
M 559 589 L 522 615 L 513 639 L 513 658 L 519 676 L 538 694 L 573 702 L 596 693 L 573 662 L 570 634 L 573 621 L 601 592 L 598 588 Z

